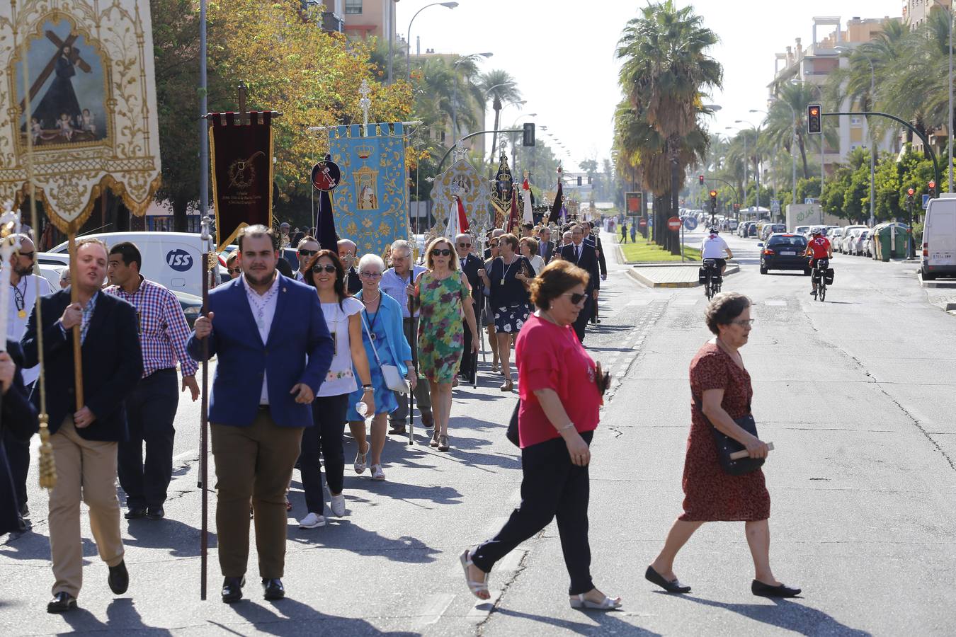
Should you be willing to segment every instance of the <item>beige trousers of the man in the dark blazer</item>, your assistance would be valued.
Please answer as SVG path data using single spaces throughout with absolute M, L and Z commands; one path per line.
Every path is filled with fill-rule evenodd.
M 122 562 L 117 443 L 79 437 L 70 415 L 50 441 L 56 461 L 56 486 L 50 492 L 50 554 L 56 579 L 53 592 L 76 597 L 83 584 L 80 499 L 90 507 L 90 529 L 99 559 L 108 566 Z

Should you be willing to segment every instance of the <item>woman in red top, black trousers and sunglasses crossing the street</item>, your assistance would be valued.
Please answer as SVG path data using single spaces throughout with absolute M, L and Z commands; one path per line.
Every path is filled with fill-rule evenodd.
M 572 607 L 620 606 L 619 598 L 609 598 L 591 580 L 588 465 L 606 380 L 571 328 L 587 300 L 587 281 L 585 270 L 560 260 L 532 281 L 537 311 L 514 350 L 521 395 L 521 504 L 493 540 L 460 557 L 467 585 L 479 599 L 490 597 L 494 563 L 556 516 Z

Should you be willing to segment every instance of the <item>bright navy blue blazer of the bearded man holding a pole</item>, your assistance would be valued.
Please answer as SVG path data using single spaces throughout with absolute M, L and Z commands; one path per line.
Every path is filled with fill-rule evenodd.
M 263 374 L 272 420 L 280 427 L 311 427 L 312 405 L 295 402 L 293 386 L 314 393 L 332 365 L 334 346 L 315 287 L 276 273 L 279 291 L 269 338 L 262 342 L 242 277 L 209 292 L 212 333 L 208 355 L 218 356 L 209 397 L 209 422 L 249 427 L 255 419 Z M 203 360 L 203 341 L 192 332 L 189 355 Z

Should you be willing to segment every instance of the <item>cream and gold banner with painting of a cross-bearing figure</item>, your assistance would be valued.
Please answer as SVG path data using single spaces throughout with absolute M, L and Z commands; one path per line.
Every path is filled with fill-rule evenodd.
M 148 0 L 0 3 L 0 201 L 27 197 L 32 144 L 60 231 L 105 188 L 141 216 L 160 184 L 158 131 Z

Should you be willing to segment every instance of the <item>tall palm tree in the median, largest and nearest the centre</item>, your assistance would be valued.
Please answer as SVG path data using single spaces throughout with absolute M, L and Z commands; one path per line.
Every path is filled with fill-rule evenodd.
M 635 120 L 641 125 L 646 122 L 663 138 L 659 151 L 641 155 L 644 180 L 654 184 L 654 194 L 664 203 L 660 207 L 669 206 L 675 215 L 682 173 L 702 144 L 706 152 L 707 136 L 702 135 L 698 120 L 703 96 L 719 88 L 723 80 L 720 63 L 706 54 L 717 43 L 717 35 L 702 25 L 703 19 L 692 7 L 677 9 L 673 0 L 664 0 L 631 19 L 618 44 L 617 55 L 624 60 L 620 84 L 634 106 Z M 698 136 L 701 142 L 690 140 Z M 669 183 L 658 174 L 662 163 Z M 669 197 L 663 199 L 665 195 Z M 661 226 L 655 224 L 655 233 Z M 669 241 L 669 233 L 664 237 L 673 244 L 672 251 L 680 248 Z

